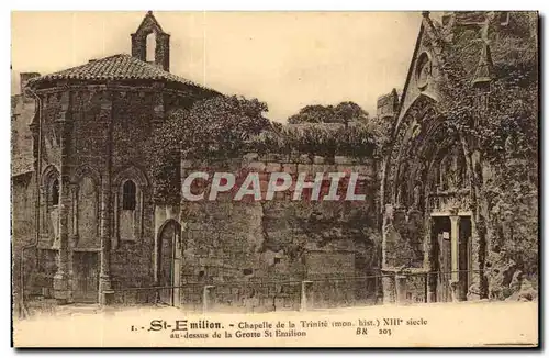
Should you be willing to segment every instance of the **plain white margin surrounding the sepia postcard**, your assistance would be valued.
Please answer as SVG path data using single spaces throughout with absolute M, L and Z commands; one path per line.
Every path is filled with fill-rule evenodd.
M 11 292 L 11 282 L 10 282 L 10 97 L 11 93 L 11 80 L 8 75 L 8 66 L 10 63 L 10 11 L 12 10 L 193 10 L 193 11 L 202 11 L 202 10 L 251 10 L 251 11 L 266 11 L 266 10 L 287 10 L 287 11 L 303 11 L 303 10 L 332 10 L 332 11 L 343 11 L 343 10 L 368 10 L 368 11 L 381 11 L 381 10 L 390 10 L 390 11 L 405 11 L 405 10 L 424 10 L 428 9 L 430 11 L 440 11 L 440 10 L 539 10 L 541 11 L 541 15 L 546 15 L 549 13 L 547 10 L 548 1 L 534 1 L 534 0 L 520 0 L 520 1 L 497 1 L 497 2 L 479 2 L 473 0 L 460 0 L 453 2 L 445 2 L 444 8 L 441 8 L 442 3 L 440 1 L 377 1 L 377 2 L 359 2 L 359 1 L 349 1 L 349 0 L 338 0 L 338 1 L 324 1 L 324 0 L 315 0 L 315 1 L 296 1 L 296 0 L 277 0 L 277 1 L 243 1 L 243 0 L 233 0 L 233 1 L 222 1 L 222 0 L 203 0 L 203 1 L 143 1 L 143 0 L 133 0 L 127 3 L 114 3 L 113 1 L 104 1 L 104 0 L 94 0 L 94 1 L 86 1 L 86 2 L 76 2 L 76 1 L 16 1 L 15 3 L 10 1 L 2 1 L 2 10 L 5 7 L 5 11 L 1 11 L 1 23 L 3 30 L 1 32 L 2 36 L 2 56 L 0 68 L 3 68 L 1 72 L 5 78 L 2 80 L 2 96 L 0 97 L 0 103 L 2 105 L 2 112 L 4 114 L 3 120 L 0 121 L 0 144 L 2 146 L 0 150 L 0 160 L 2 164 L 2 168 L 4 170 L 1 171 L 1 184 L 3 190 L 0 191 L 0 220 L 1 220 L 1 228 L 2 228 L 2 240 L 3 246 L 0 250 L 2 257 L 0 259 L 3 262 L 3 269 L 1 270 L 2 282 L 1 286 L 3 288 L 3 293 L 0 295 L 0 312 L 2 314 L 2 325 L 1 325 L 1 337 L 2 337 L 2 357 L 15 355 L 13 349 L 9 348 L 11 332 L 10 332 L 10 321 L 11 321 L 11 311 L 10 311 L 10 292 Z M 9 4 L 12 4 L 13 8 L 9 8 Z M 153 8 L 153 9 L 150 9 Z M 544 30 L 544 29 L 541 29 Z M 545 33 L 545 31 L 544 31 Z M 547 43 L 547 36 L 541 34 L 540 38 L 542 40 L 541 48 L 545 47 Z M 546 65 L 546 57 L 542 57 L 544 61 L 540 64 L 542 68 Z M 544 71 L 542 71 L 544 74 Z M 542 78 L 545 79 L 545 77 Z M 403 78 L 404 81 L 404 78 Z M 542 82 L 540 82 L 541 85 Z M 9 87 L 10 86 L 10 87 Z M 541 92 L 544 93 L 544 92 Z M 544 126 L 542 137 L 547 138 L 548 126 Z M 540 133 L 541 134 L 541 133 Z M 542 143 L 541 153 L 547 153 L 547 141 Z M 547 168 L 547 157 L 542 159 L 542 168 Z M 545 183 L 545 182 L 544 182 Z M 544 198 L 545 199 L 545 198 Z M 545 200 L 542 201 L 545 203 Z M 541 222 L 549 223 L 549 215 L 547 212 L 544 212 L 544 217 Z M 540 233 L 540 238 L 544 239 L 544 232 Z M 545 245 L 545 249 L 542 256 L 547 255 L 547 244 Z M 545 272 L 544 272 L 545 273 Z M 545 275 L 541 276 L 545 281 Z M 547 282 L 542 282 L 542 288 L 547 287 Z M 545 293 L 545 292 L 544 292 Z M 546 295 L 542 294 L 542 298 Z M 542 322 L 540 322 L 542 324 Z M 547 332 L 547 329 L 544 329 Z M 451 333 L 450 333 L 451 334 Z M 544 339 L 545 337 L 540 337 Z M 545 340 L 545 339 L 544 339 Z M 547 342 L 546 342 L 547 343 Z M 166 353 L 166 351 L 163 351 Z M 414 354 L 424 354 L 425 351 L 415 351 Z M 442 351 L 437 351 L 436 354 L 440 354 Z M 511 354 L 522 354 L 524 351 L 512 351 Z M 42 354 L 48 354 L 53 356 L 60 355 L 59 351 L 42 351 Z M 117 353 L 119 355 L 132 355 L 131 351 Z M 145 354 L 152 354 L 147 351 Z M 184 351 L 184 353 L 176 353 L 176 354 L 219 354 L 219 351 Z M 231 353 L 237 354 L 237 353 Z M 255 354 L 255 353 L 254 353 Z M 262 351 L 261 354 L 273 354 Z M 298 353 L 289 353 L 289 351 L 277 351 L 277 355 L 295 355 L 302 354 L 302 351 Z M 315 351 L 318 355 L 326 355 L 326 353 Z M 356 351 L 355 354 L 363 354 L 362 351 Z M 376 354 L 379 354 L 376 353 Z M 394 354 L 394 351 L 390 351 L 389 354 Z M 475 351 L 461 351 L 458 353 L 461 355 L 467 354 L 468 356 L 480 355 L 481 353 Z M 536 354 L 535 351 L 529 351 L 529 354 Z M 110 353 L 109 355 L 112 355 Z

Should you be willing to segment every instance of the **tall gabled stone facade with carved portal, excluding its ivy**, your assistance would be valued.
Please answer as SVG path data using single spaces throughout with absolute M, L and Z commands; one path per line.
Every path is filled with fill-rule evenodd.
M 383 163 L 383 294 L 385 302 L 439 302 L 488 297 L 486 198 L 490 166 L 478 139 L 450 131 L 438 112 L 448 48 L 459 32 L 475 37 L 468 68 L 479 125 L 494 79 L 491 46 L 509 24 L 508 13 L 446 13 L 441 23 L 424 13 L 404 92 L 394 116 L 392 146 Z M 518 15 L 518 14 L 517 14 Z M 512 21 L 513 22 L 513 21 Z M 524 32 L 524 36 L 535 36 Z M 488 38 L 490 37 L 491 41 Z M 466 59 L 463 59 L 466 60 Z M 385 104 L 391 96 L 380 101 Z M 386 111 L 386 104 L 383 111 Z M 482 227 L 479 227 L 482 225 Z M 469 294 L 469 295 L 468 295 Z

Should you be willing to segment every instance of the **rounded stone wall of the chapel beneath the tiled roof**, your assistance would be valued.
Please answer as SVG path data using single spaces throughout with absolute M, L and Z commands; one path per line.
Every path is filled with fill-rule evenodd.
M 108 90 L 104 86 L 86 86 L 75 87 L 70 91 L 55 88 L 44 90 L 41 99 L 41 165 L 43 172 L 51 171 L 52 177 L 57 177 L 63 166 L 68 178 L 61 180 L 59 192 L 67 195 L 66 230 L 70 250 L 98 251 L 99 258 L 102 192 L 109 188 L 110 273 L 113 288 L 153 286 L 156 231 L 153 188 L 148 179 L 152 156 L 147 143 L 155 127 L 164 120 L 166 111 L 189 107 L 197 98 L 183 93 L 164 93 L 161 88 L 155 86 L 143 90 L 138 87 Z M 61 164 L 63 146 L 67 148 Z M 121 187 L 126 179 L 135 181 L 138 187 L 133 224 L 135 237 L 132 239 L 124 239 L 120 235 L 123 224 L 120 222 Z M 40 266 L 46 268 L 56 265 L 59 237 L 53 230 L 56 227 L 56 217 L 46 213 L 49 182 L 44 178 L 41 180 L 40 248 L 44 251 L 38 256 L 43 258 Z M 110 187 L 105 187 L 107 180 L 111 182 Z M 82 215 L 86 208 L 96 210 Z M 57 211 L 56 208 L 54 211 Z M 53 255 L 47 253 L 49 250 L 53 250 Z M 38 286 L 37 291 L 47 291 L 54 273 L 55 270 L 37 273 L 40 278 L 34 280 Z

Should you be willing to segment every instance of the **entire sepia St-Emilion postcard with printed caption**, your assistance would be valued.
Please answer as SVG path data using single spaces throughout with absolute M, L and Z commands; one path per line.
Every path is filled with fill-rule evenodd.
M 14 347 L 537 347 L 538 13 L 13 12 Z

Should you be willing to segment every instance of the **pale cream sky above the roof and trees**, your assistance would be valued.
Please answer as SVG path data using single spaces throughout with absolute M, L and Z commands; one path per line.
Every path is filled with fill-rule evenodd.
M 170 37 L 170 71 L 225 94 L 257 98 L 285 122 L 307 104 L 354 101 L 371 114 L 402 89 L 419 12 L 154 12 Z M 13 12 L 12 91 L 42 75 L 131 54 L 145 12 Z

